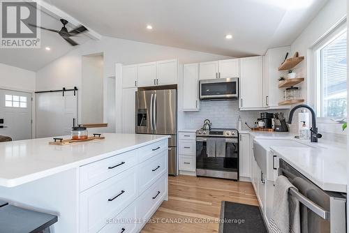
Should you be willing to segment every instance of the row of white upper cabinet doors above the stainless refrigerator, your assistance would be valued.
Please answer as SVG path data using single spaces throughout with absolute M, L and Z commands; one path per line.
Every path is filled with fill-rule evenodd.
M 154 87 L 178 84 L 178 61 L 170 59 L 122 67 L 122 87 Z

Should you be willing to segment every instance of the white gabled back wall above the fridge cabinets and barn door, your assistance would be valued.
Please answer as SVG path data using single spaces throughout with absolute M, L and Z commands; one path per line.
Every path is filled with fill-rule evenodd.
M 133 64 L 148 61 L 158 61 L 163 59 L 179 59 L 180 63 L 191 63 L 198 61 L 213 61 L 218 59 L 228 59 L 229 57 L 183 50 L 177 47 L 153 45 L 140 43 L 132 40 L 122 40 L 118 38 L 102 37 L 101 40 L 90 40 L 80 45 L 76 50 L 57 59 L 44 68 L 38 70 L 36 74 L 36 88 L 39 90 L 57 89 L 61 87 L 71 88 L 82 84 L 82 55 L 96 54 L 103 52 L 104 55 L 104 86 L 107 85 L 107 77 L 115 76 L 115 63 Z M 121 92 L 119 79 L 117 80 L 117 95 Z M 104 91 L 104 106 L 106 106 L 107 91 Z M 81 106 L 81 93 L 79 92 L 79 106 Z M 117 98 L 119 100 L 119 98 Z M 121 106 L 117 103 L 117 106 Z M 81 119 L 81 107 L 79 107 L 79 119 Z M 121 119 L 117 108 L 117 119 Z M 103 111 L 104 121 L 107 121 L 106 107 Z M 103 129 L 106 130 L 106 129 Z M 110 130 L 110 129 L 108 129 Z

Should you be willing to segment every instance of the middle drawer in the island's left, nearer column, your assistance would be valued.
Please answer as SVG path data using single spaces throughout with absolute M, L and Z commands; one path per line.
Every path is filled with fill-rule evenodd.
M 80 194 L 80 232 L 98 232 L 138 197 L 135 167 Z

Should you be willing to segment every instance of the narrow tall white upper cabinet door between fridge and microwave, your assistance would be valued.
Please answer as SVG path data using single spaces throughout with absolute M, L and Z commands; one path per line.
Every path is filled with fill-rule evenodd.
M 183 110 L 199 109 L 198 63 L 183 66 Z

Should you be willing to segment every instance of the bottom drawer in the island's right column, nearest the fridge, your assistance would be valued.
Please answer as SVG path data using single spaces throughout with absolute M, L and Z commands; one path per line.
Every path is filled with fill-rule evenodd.
M 140 197 L 138 197 L 137 202 L 137 218 L 147 219 L 150 218 L 153 213 L 155 213 L 158 206 L 164 200 L 166 195 L 166 184 L 167 184 L 168 174 L 163 174 L 163 176 L 158 179 L 153 185 L 147 189 Z M 145 223 L 142 223 L 141 227 Z

